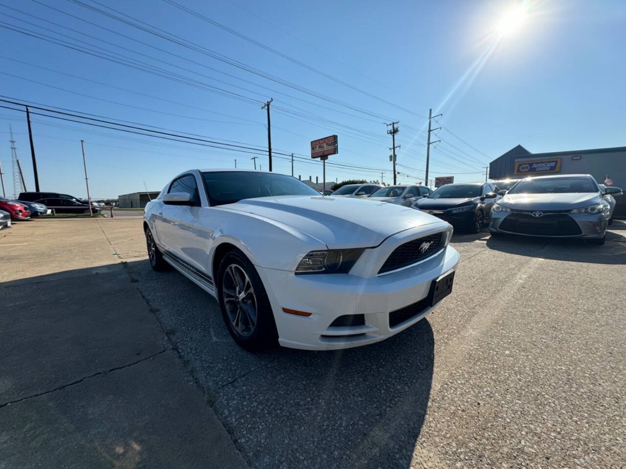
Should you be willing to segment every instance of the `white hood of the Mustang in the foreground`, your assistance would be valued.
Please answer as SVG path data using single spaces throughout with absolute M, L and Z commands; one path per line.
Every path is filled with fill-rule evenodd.
M 409 207 L 351 197 L 262 197 L 220 207 L 287 224 L 329 248 L 377 246 L 399 231 L 441 221 Z

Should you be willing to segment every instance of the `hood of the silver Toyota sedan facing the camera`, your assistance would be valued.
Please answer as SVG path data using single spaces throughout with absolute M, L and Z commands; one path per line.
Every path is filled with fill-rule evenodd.
M 518 210 L 567 210 L 600 203 L 595 193 L 506 194 L 499 204 Z

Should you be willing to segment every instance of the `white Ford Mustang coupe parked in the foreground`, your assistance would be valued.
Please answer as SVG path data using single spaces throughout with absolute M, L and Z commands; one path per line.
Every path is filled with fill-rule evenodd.
M 179 174 L 143 228 L 152 268 L 172 265 L 215 296 L 249 350 L 384 340 L 452 291 L 459 261 L 452 227 L 434 216 L 261 171 Z

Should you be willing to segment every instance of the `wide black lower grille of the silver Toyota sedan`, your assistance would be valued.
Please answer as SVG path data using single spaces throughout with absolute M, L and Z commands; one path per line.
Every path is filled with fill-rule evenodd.
M 534 217 L 530 213 L 513 212 L 498 227 L 502 231 L 535 236 L 577 236 L 582 234 L 575 219 L 567 213 L 544 213 Z

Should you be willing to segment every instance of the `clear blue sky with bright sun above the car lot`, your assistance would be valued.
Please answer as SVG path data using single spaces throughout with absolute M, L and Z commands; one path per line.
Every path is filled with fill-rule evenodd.
M 500 36 L 494 29 L 519 2 L 177 0 L 336 80 L 163 0 L 81 1 L 109 13 L 113 12 L 106 7 L 114 8 L 316 96 L 73 1 L 1 0 L 0 26 L 17 26 L 71 43 L 85 41 L 91 45 L 81 46 L 105 48 L 113 57 L 123 54 L 176 73 L 185 81 L 1 28 L 5 47 L 0 53 L 0 94 L 8 97 L 3 99 L 266 147 L 266 114 L 260 104 L 273 98 L 272 147 L 300 156 L 294 163 L 296 177 L 315 180 L 318 176 L 320 181 L 321 163 L 306 158 L 309 142 L 336 133 L 339 154 L 329 162 L 374 169 L 329 165 L 327 180 L 380 179 L 381 169 L 384 181 L 390 182 L 391 136 L 384 122 L 391 119 L 400 121 L 396 144 L 401 145 L 397 161 L 403 174 L 398 182 L 423 181 L 429 108 L 434 114 L 443 113 L 433 122 L 443 129 L 433 134 L 441 143 L 431 151 L 429 178 L 484 179 L 484 166 L 518 143 L 531 152 L 626 144 L 626 3 L 622 1 L 526 2 L 524 23 Z M 190 79 L 197 86 L 190 86 Z M 219 94 L 223 91 L 215 93 L 215 88 L 210 91 L 207 86 L 245 98 L 223 96 Z M 235 159 L 238 168 L 254 167 L 252 154 L 43 116 L 32 120 L 42 190 L 86 195 L 81 139 L 85 140 L 91 195 L 96 198 L 143 190 L 143 181 L 149 189 L 160 190 L 173 175 L 188 168 L 232 168 Z M 0 109 L 0 135 L 4 137 L 0 161 L 7 192 L 13 193 L 9 123 L 26 186 L 34 190 L 24 113 Z M 259 155 L 257 165 L 267 169 L 267 154 Z M 274 158 L 274 171 L 290 174 L 290 161 Z

